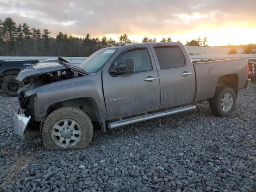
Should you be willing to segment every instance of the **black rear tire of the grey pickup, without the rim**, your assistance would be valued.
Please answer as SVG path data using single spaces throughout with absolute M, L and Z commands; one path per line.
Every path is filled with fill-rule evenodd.
M 225 100 L 224 94 L 230 94 L 232 96 L 232 105 L 228 109 L 228 111 L 224 111 L 223 106 L 222 106 L 222 99 Z M 232 114 L 232 112 L 235 109 L 236 106 L 236 93 L 233 88 L 231 87 L 217 87 L 215 90 L 215 94 L 213 98 L 210 98 L 208 100 L 209 105 L 210 105 L 210 110 L 214 115 L 220 116 L 220 117 L 228 117 Z M 227 110 L 227 109 L 226 109 Z

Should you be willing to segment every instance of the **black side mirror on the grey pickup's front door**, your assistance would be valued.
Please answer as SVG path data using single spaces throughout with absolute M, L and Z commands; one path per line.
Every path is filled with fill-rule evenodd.
M 113 76 L 134 74 L 134 58 L 124 58 L 123 63 L 112 65 L 108 71 Z

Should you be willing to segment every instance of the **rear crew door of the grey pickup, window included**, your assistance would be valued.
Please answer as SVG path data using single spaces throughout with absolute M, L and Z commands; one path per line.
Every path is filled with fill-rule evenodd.
M 179 46 L 152 46 L 161 88 L 160 108 L 193 102 L 194 69 Z

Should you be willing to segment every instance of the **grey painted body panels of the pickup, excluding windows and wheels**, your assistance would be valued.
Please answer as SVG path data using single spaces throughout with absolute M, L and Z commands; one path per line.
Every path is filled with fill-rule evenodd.
M 161 70 L 155 45 L 179 46 L 186 66 Z M 128 48 L 146 46 L 152 62 L 152 71 L 132 75 L 110 76 L 108 69 L 116 57 Z M 117 46 L 110 60 L 96 73 L 62 80 L 29 90 L 25 96 L 36 95 L 36 116 L 43 116 L 52 104 L 74 98 L 90 98 L 98 105 L 102 122 L 114 118 L 151 112 L 167 107 L 186 105 L 194 101 L 206 100 L 214 95 L 217 80 L 226 74 L 237 74 L 238 90 L 246 86 L 246 59 L 230 59 L 192 64 L 190 56 L 180 42 L 142 43 Z M 65 69 L 57 62 L 38 63 L 22 70 L 18 80 L 28 76 Z M 182 76 L 183 72 L 191 75 Z M 156 78 L 144 81 L 148 77 Z M 43 120 L 43 119 L 42 119 Z

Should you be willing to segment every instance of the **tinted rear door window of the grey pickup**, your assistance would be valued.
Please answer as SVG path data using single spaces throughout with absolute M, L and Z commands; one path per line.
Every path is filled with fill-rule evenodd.
M 155 47 L 161 69 L 184 67 L 186 62 L 179 47 Z

